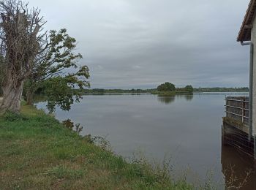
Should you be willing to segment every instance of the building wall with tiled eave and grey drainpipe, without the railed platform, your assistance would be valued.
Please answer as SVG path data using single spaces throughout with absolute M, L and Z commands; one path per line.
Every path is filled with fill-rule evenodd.
M 251 120 L 252 126 L 252 136 L 256 135 L 256 0 L 251 0 L 249 7 L 246 11 L 244 17 L 244 22 L 242 23 L 240 32 L 238 34 L 238 42 L 242 45 L 251 45 L 251 56 L 250 59 L 252 64 L 250 66 L 250 104 L 251 105 Z

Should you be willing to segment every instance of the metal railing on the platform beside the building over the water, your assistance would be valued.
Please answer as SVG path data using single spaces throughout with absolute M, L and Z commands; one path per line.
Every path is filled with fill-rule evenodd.
M 226 116 L 249 124 L 249 97 L 226 97 Z

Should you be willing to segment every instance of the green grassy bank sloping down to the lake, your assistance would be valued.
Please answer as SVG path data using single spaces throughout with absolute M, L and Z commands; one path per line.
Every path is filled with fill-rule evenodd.
M 0 189 L 192 189 L 144 161 L 128 164 L 34 107 L 0 118 L 0 144 Z

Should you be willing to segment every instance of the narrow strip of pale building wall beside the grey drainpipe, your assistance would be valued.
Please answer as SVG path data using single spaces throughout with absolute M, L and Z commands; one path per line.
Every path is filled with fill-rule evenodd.
M 256 19 L 252 28 L 252 43 L 254 44 L 253 88 L 252 88 L 252 134 L 256 135 Z

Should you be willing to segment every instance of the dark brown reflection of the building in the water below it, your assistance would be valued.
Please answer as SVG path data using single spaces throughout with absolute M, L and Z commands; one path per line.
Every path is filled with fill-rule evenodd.
M 222 145 L 222 173 L 227 189 L 256 189 L 255 161 L 229 145 Z

